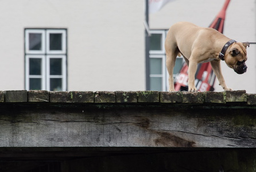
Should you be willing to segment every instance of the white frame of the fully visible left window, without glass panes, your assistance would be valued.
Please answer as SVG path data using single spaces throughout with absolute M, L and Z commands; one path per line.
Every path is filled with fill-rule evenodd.
M 25 28 L 24 30 L 24 53 L 25 53 L 25 89 L 30 90 L 30 78 L 41 78 L 41 90 L 50 90 L 50 79 L 61 78 L 61 91 L 67 91 L 67 29 L 48 29 L 48 28 Z M 42 34 L 42 50 L 29 50 L 29 33 L 41 33 Z M 61 50 L 49 50 L 49 34 L 61 33 Z M 61 72 L 62 75 L 51 76 L 49 75 L 49 58 L 61 58 Z M 41 76 L 29 75 L 29 58 L 41 58 Z

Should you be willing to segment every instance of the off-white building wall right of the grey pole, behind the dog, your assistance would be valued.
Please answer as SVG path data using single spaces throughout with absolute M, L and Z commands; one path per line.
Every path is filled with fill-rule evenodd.
M 208 27 L 224 4 L 224 0 L 183 0 L 172 1 L 160 11 L 150 14 L 150 29 L 168 29 L 179 21 L 189 21 L 196 25 Z M 236 41 L 256 42 L 255 1 L 231 0 L 226 11 L 224 34 Z M 247 48 L 247 72 L 238 75 L 222 61 L 222 71 L 228 87 L 247 93 L 256 93 L 256 45 Z M 215 91 L 223 91 L 216 80 Z

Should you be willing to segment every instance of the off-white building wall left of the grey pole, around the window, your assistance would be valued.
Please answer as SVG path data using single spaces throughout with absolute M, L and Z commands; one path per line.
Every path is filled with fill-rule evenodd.
M 24 89 L 24 29 L 68 29 L 68 90 L 145 89 L 143 1 L 0 2 L 0 90 Z

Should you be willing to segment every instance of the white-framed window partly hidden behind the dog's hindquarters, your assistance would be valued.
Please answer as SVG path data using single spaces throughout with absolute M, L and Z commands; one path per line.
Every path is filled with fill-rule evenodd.
M 152 91 L 167 91 L 168 72 L 165 65 L 166 54 L 164 49 L 165 38 L 168 30 L 150 31 L 150 50 L 149 50 L 149 89 Z M 173 77 L 183 65 L 183 58 L 177 57 L 173 70 Z

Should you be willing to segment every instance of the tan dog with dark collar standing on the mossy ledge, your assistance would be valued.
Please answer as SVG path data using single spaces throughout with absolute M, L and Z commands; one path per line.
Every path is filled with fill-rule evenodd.
M 179 53 L 183 55 L 188 65 L 188 91 L 197 91 L 195 87 L 197 64 L 209 61 L 219 80 L 219 85 L 225 91 L 232 90 L 224 81 L 220 60 L 224 60 L 236 73 L 246 72 L 246 47 L 249 45 L 249 42 L 230 40 L 212 28 L 201 28 L 189 22 L 174 24 L 170 27 L 165 40 L 169 91 L 174 91 L 173 68 Z

